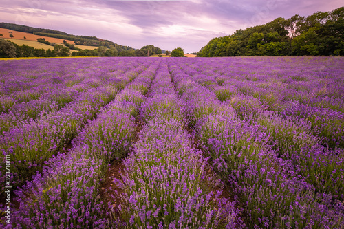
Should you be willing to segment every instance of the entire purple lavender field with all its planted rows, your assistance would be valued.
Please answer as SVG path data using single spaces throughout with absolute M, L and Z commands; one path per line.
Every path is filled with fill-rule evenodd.
M 344 228 L 344 58 L 12 60 L 0 80 L 1 228 Z

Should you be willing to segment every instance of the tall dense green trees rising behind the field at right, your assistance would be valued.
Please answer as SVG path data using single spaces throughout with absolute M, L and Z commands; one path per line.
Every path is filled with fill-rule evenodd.
M 281 17 L 230 36 L 217 37 L 197 56 L 344 55 L 344 7 L 309 17 Z

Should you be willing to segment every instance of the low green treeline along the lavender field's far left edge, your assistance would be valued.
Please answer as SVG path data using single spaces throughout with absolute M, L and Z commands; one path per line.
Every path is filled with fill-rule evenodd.
M 40 39 L 40 42 L 45 40 Z M 52 45 L 52 43 L 49 43 Z M 10 41 L 0 39 L 0 58 L 14 58 L 14 57 L 58 57 L 58 56 L 151 56 L 153 54 L 161 54 L 162 50 L 153 45 L 147 45 L 140 50 L 118 50 L 116 47 L 111 46 L 107 48 L 100 46 L 94 50 L 76 50 L 77 47 L 64 43 L 64 45 L 54 45 L 52 50 L 43 50 L 30 47 L 28 45 L 17 45 Z M 72 53 L 71 53 L 72 51 Z

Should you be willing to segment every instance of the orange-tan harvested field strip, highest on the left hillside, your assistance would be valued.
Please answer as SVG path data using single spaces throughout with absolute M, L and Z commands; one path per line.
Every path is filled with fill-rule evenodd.
M 4 38 L 4 39 L 10 39 L 11 38 L 10 34 L 12 34 L 13 35 L 12 39 L 19 39 L 19 40 L 25 40 L 25 41 L 37 41 L 38 38 L 44 38 L 45 41 L 49 41 L 51 43 L 63 43 L 63 39 L 56 39 L 49 36 L 39 36 L 39 35 L 34 35 L 34 34 L 26 33 L 26 32 L 8 30 L 4 28 L 0 28 L 0 34 L 3 34 L 3 36 L 0 36 L 0 38 Z M 26 37 L 26 39 L 24 38 L 24 36 Z M 69 41 L 69 40 L 65 40 L 65 41 L 67 41 L 67 43 L 71 45 L 74 44 L 74 41 Z

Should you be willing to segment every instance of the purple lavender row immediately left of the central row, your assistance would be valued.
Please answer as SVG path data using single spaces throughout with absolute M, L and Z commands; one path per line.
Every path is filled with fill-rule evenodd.
M 157 67 L 145 64 L 144 71 L 78 132 L 72 149 L 50 160 L 43 173 L 17 191 L 17 228 L 110 226 L 100 186 L 109 162 L 129 152 L 136 136 L 134 118 Z

